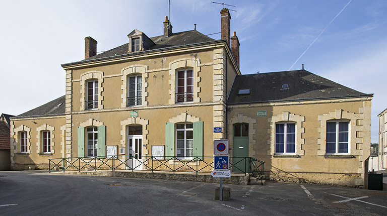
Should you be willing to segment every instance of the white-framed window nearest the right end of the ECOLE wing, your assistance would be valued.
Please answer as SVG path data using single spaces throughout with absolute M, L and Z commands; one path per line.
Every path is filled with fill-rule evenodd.
M 349 153 L 348 131 L 348 122 L 327 122 L 327 154 Z

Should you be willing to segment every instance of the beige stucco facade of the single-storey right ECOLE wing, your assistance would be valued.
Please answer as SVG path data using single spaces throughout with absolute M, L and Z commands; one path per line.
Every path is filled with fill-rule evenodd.
M 363 185 L 364 161 L 369 157 L 371 98 L 314 100 L 230 105 L 228 139 L 232 126 L 249 124 L 249 157 L 265 162 L 265 176 L 276 180 L 339 185 Z M 267 117 L 257 117 L 266 111 Z M 327 121 L 350 123 L 347 155 L 327 155 Z M 276 155 L 275 123 L 296 124 L 296 154 Z M 232 147 L 232 142 L 231 147 Z M 230 155 L 232 155 L 232 151 Z

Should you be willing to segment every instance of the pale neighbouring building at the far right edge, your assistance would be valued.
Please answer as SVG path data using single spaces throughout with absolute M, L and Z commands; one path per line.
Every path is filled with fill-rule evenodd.
M 377 170 L 385 170 L 387 169 L 387 109 L 377 115 L 377 117 L 379 117 L 379 167 Z

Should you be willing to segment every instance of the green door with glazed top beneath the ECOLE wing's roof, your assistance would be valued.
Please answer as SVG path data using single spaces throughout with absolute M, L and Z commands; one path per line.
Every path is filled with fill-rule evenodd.
M 233 172 L 248 171 L 248 124 L 235 124 L 233 130 Z

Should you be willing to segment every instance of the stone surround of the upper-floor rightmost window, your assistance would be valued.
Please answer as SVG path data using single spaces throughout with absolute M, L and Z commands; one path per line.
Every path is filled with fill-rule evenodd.
M 199 82 L 201 81 L 201 77 L 199 76 L 200 68 L 200 60 L 197 58 L 182 58 L 169 63 L 169 104 L 176 103 L 176 73 L 180 69 L 192 68 L 192 76 L 193 76 L 193 102 L 200 102 L 201 99 L 199 97 L 199 92 L 201 88 L 199 87 Z M 191 103 L 186 102 L 186 103 Z

